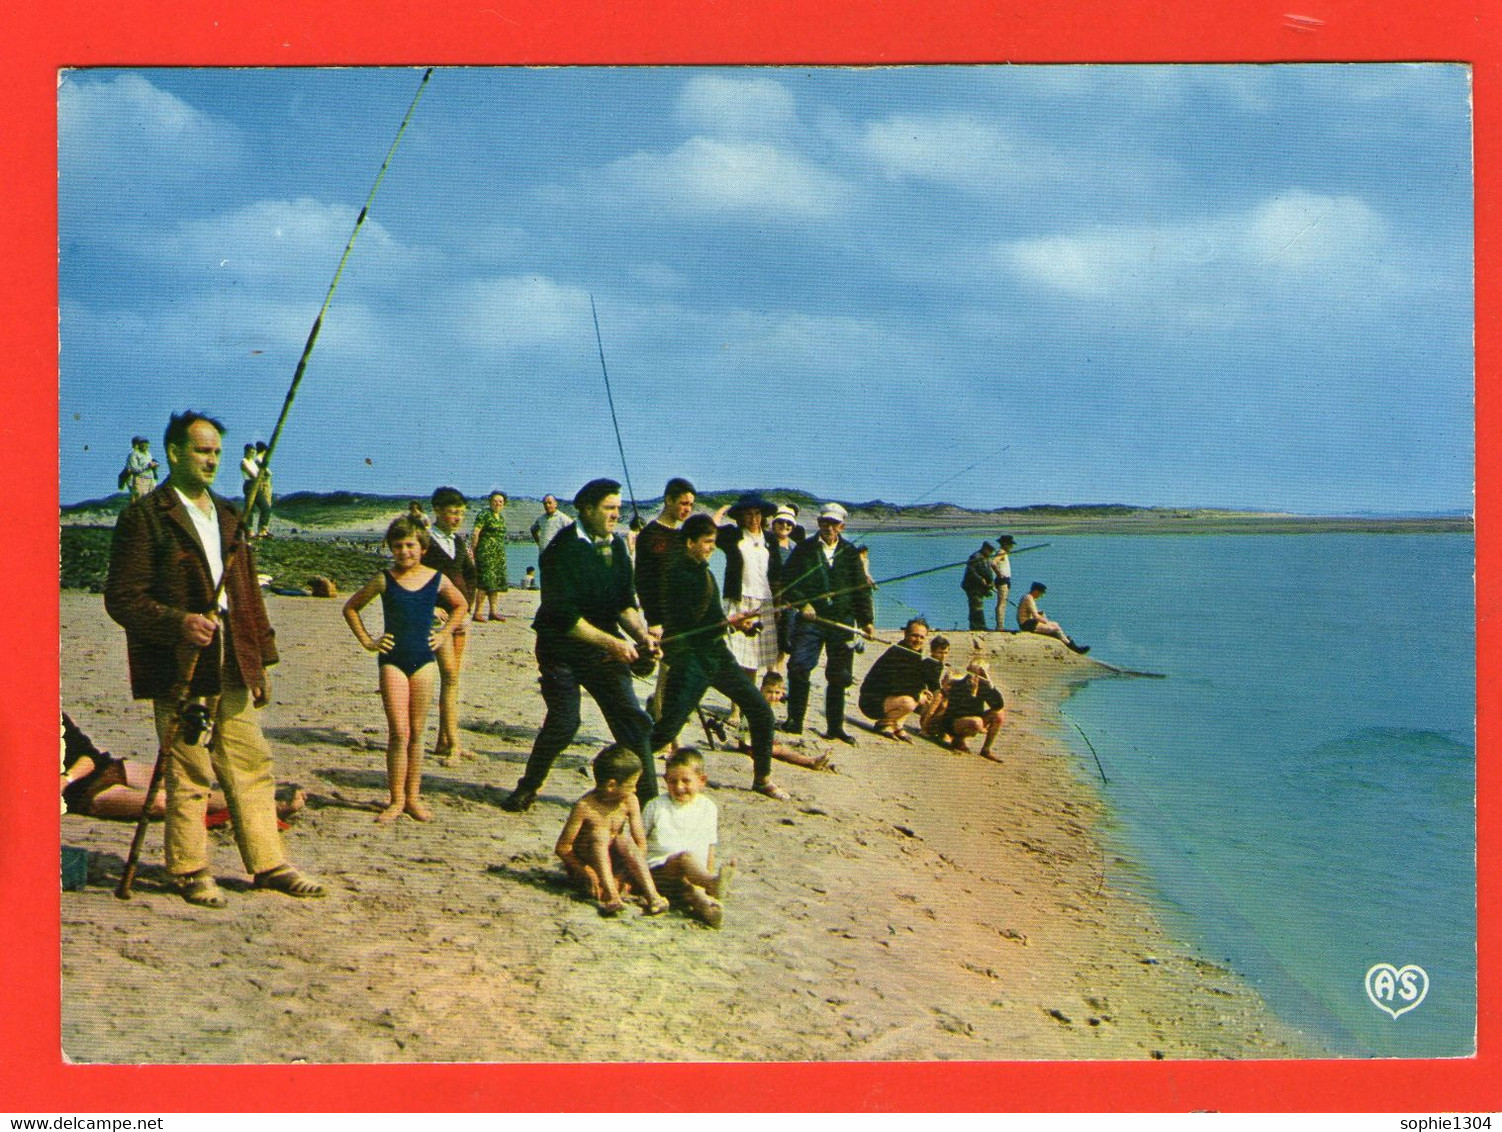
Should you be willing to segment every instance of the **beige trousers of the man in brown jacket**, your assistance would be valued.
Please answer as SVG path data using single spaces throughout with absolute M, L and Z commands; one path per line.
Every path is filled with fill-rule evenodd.
M 215 701 L 210 700 L 210 704 Z M 155 700 L 156 739 L 167 742 L 177 716 L 176 700 Z M 209 790 L 215 778 L 230 803 L 234 841 L 246 872 L 285 863 L 276 832 L 276 784 L 272 749 L 255 719 L 246 688 L 225 688 L 213 713 L 212 746 L 179 739 L 167 760 L 167 871 L 197 872 L 209 866 Z

